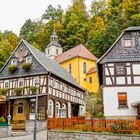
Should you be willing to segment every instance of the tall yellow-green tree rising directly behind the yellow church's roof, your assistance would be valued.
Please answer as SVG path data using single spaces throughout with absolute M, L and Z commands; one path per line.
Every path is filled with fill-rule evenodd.
M 88 13 L 84 0 L 74 0 L 66 11 L 63 26 L 65 29 L 65 50 L 78 44 L 85 44 L 88 32 Z

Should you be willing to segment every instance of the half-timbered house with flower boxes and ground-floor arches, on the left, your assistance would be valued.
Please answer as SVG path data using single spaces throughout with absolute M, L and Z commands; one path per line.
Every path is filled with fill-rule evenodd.
M 83 115 L 84 90 L 59 64 L 21 40 L 0 71 L 0 92 L 7 95 L 7 114 L 12 120 L 34 119 L 36 82 L 40 82 L 39 120 L 46 119 L 47 107 L 50 118 Z

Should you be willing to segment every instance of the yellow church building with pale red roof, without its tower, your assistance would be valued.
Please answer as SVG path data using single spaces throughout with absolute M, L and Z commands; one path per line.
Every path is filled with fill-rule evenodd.
M 98 58 L 82 44 L 57 55 L 54 60 L 67 69 L 77 83 L 88 92 L 97 92 L 99 85 L 96 61 Z

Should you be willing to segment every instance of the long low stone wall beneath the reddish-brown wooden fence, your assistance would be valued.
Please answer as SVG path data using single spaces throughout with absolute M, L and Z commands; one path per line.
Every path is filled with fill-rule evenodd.
M 49 140 L 140 140 L 139 136 L 84 132 L 49 131 Z

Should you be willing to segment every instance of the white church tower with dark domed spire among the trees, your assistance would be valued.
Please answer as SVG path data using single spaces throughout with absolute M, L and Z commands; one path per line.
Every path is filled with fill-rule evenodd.
M 62 47 L 58 43 L 58 36 L 56 32 L 54 31 L 50 37 L 50 44 L 45 49 L 45 54 L 51 59 L 54 59 L 55 56 L 61 54 L 62 51 L 63 51 Z

